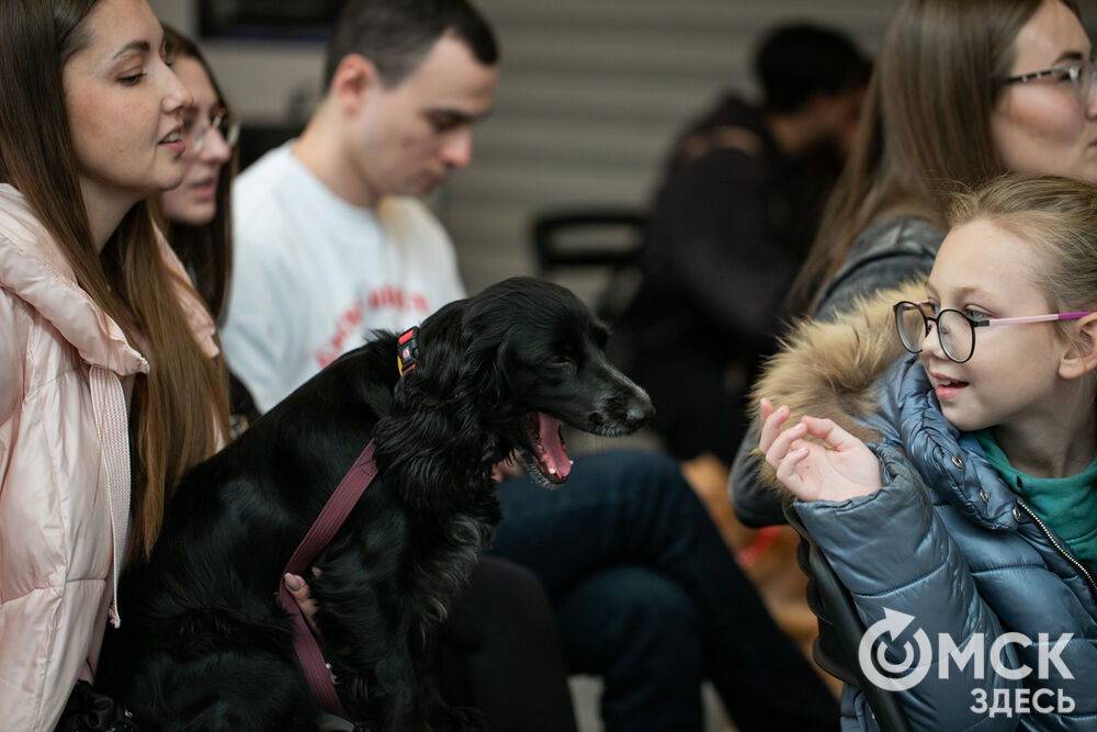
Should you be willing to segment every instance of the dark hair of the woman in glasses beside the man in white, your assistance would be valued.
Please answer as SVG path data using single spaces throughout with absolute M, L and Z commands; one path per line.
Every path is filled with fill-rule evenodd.
M 225 94 L 220 91 L 213 69 L 206 63 L 197 45 L 167 23 L 163 25 L 163 54 L 169 63 L 180 56 L 193 58 L 205 70 L 217 103 L 228 110 Z M 231 110 L 229 110 L 231 116 Z M 194 289 L 202 295 L 210 313 L 218 322 L 224 319 L 225 300 L 229 274 L 233 269 L 233 179 L 238 166 L 238 150 L 234 146 L 231 157 L 217 173 L 216 211 L 213 219 L 203 226 L 192 226 L 169 221 L 158 205 L 154 205 L 158 221 L 168 235 L 168 241 L 183 267 L 190 273 Z M 158 202 L 157 202 L 158 203 Z

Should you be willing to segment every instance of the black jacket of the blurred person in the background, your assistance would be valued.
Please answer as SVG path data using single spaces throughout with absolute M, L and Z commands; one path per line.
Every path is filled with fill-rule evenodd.
M 651 207 L 642 283 L 614 327 L 614 353 L 655 401 L 653 426 L 676 457 L 731 462 L 743 395 L 838 169 L 826 151 L 787 158 L 736 97 L 679 137 Z

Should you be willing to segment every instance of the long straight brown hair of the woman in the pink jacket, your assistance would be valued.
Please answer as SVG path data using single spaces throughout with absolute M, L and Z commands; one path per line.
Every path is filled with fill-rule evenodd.
M 98 0 L 0 2 L 0 182 L 19 190 L 79 285 L 149 362 L 131 406 L 129 545 L 147 554 L 180 475 L 228 433 L 223 368 L 204 356 L 165 266 L 146 202 L 97 252 L 65 111 L 61 70 L 88 43 Z

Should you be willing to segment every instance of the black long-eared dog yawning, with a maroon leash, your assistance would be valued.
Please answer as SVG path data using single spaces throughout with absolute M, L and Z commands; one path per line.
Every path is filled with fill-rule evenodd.
M 623 435 L 654 414 L 606 336 L 567 290 L 514 278 L 427 318 L 404 378 L 392 333 L 335 361 L 184 477 L 151 559 L 123 576 L 97 685 L 150 729 L 315 729 L 274 594 L 372 438 L 378 477 L 309 581 L 327 658 L 362 727 L 475 728 L 423 675 L 427 641 L 499 521 L 493 466 L 517 449 L 552 485 L 568 468 L 545 425 Z

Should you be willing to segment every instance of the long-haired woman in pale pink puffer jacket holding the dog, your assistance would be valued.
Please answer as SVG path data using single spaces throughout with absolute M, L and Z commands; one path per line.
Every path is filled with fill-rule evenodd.
M 162 35 L 145 0 L 0 0 L 9 730 L 54 729 L 92 678 L 122 566 L 227 430 L 213 322 L 145 203 L 180 182 L 185 147 Z

